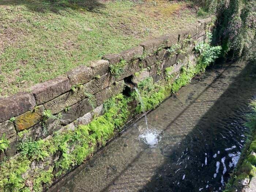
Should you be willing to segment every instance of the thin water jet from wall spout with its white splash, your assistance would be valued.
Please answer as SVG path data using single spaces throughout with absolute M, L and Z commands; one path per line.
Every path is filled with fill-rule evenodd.
M 143 133 L 139 135 L 139 139 L 142 139 L 143 142 L 148 144 L 150 147 L 155 147 L 158 144 L 158 139 L 159 139 L 160 132 L 157 131 L 157 130 L 153 130 L 153 129 L 148 128 L 147 113 L 146 113 L 146 110 L 145 110 L 145 105 L 144 105 L 143 99 L 140 95 L 139 90 L 136 87 L 134 87 L 134 89 L 135 89 L 135 91 L 138 95 L 139 102 L 142 106 L 142 110 L 143 110 L 144 117 L 145 117 L 144 118 L 145 119 L 145 124 L 146 124 L 146 130 L 144 129 Z

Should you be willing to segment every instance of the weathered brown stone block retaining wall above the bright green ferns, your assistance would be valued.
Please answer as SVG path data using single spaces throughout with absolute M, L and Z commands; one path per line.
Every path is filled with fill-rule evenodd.
M 44 139 L 65 126 L 89 123 L 95 114 L 102 114 L 106 99 L 123 92 L 125 82 L 136 84 L 149 76 L 157 82 L 165 78 L 165 69 L 171 66 L 173 70 L 168 75 L 174 74 L 176 79 L 182 66 L 196 62 L 194 43 L 204 39 L 206 29 L 212 30 L 208 25 L 211 22 L 212 18 L 198 20 L 187 30 L 162 35 L 119 54 L 106 54 L 89 67 L 76 67 L 64 76 L 31 87 L 30 93 L 0 98 L 0 138 L 6 135 L 11 142 L 7 150 L 0 151 L 0 160 L 18 153 L 18 143 L 26 138 Z M 174 45 L 180 45 L 180 49 L 170 53 Z M 121 73 L 112 74 L 109 66 L 122 61 L 126 65 Z M 96 104 L 94 110 L 92 100 Z M 45 112 L 49 110 L 59 118 L 47 119 Z M 23 130 L 27 131 L 20 138 L 18 133 Z

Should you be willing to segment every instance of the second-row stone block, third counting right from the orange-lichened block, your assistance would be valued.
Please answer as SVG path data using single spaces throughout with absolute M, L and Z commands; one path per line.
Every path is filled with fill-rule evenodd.
M 95 94 L 114 82 L 114 77 L 109 73 L 102 75 L 98 79 L 93 79 L 90 82 L 84 84 L 84 90 L 86 93 Z

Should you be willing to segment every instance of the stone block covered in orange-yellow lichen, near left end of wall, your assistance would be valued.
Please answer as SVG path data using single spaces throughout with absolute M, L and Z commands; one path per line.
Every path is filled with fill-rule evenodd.
M 44 106 L 39 105 L 34 110 L 23 113 L 15 118 L 14 125 L 17 131 L 28 129 L 42 120 Z

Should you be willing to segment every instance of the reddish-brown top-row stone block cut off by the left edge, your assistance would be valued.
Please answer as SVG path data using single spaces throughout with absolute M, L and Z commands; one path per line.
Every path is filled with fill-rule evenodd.
M 33 109 L 35 105 L 33 94 L 21 93 L 0 98 L 0 123 Z

